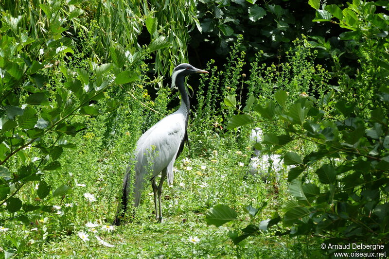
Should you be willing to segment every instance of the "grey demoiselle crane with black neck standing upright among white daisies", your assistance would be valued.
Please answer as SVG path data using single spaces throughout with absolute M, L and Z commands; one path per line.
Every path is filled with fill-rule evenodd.
M 138 207 L 141 200 L 141 190 L 146 177 L 150 177 L 154 192 L 156 220 L 162 221 L 161 194 L 162 184 L 167 177 L 169 185 L 173 183 L 173 164 L 188 141 L 187 128 L 189 117 L 189 96 L 186 92 L 184 79 L 194 73 L 208 73 L 196 69 L 190 64 L 178 65 L 172 73 L 172 88 L 178 87 L 181 95 L 181 105 L 178 110 L 158 121 L 138 139 L 134 158 L 131 158 L 123 180 L 121 205 L 118 208 L 112 224 L 119 225 L 128 205 Z M 156 177 L 161 173 L 159 184 Z M 147 176 L 149 175 L 149 176 Z M 135 176 L 134 184 L 131 184 Z M 157 210 L 157 199 L 159 213 Z

